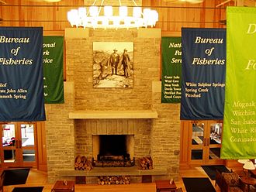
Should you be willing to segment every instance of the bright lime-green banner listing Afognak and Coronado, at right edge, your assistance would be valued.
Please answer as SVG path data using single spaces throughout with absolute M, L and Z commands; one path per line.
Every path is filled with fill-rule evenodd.
M 227 8 L 222 159 L 256 157 L 256 9 Z

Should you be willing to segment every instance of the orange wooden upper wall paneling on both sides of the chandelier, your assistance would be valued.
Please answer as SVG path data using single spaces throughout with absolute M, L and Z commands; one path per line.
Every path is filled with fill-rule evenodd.
M 43 26 L 45 31 L 64 31 L 71 27 L 67 22 L 67 12 L 83 5 L 83 0 L 57 3 L 30 2 L 29 0 L 6 0 L 1 6 L 4 19 L 0 26 Z M 199 4 L 173 3 L 164 1 L 142 1 L 143 6 L 152 6 L 159 13 L 157 28 L 162 31 L 181 31 L 182 27 L 223 27 L 217 22 L 226 18 L 224 6 L 234 5 L 234 1 L 215 9 L 221 0 L 204 1 Z M 13 6 L 16 5 L 16 6 Z M 209 9 L 213 8 L 213 9 Z M 204 23 L 207 22 L 207 23 Z

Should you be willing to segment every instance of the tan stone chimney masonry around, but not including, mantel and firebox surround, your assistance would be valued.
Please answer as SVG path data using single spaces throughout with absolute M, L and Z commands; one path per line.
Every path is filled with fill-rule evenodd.
M 92 87 L 93 42 L 133 42 L 133 88 Z M 156 110 L 157 119 L 135 121 L 134 156 L 150 155 L 155 168 L 168 170 L 164 178 L 177 178 L 179 105 L 161 104 L 161 29 L 66 29 L 65 46 L 66 84 L 74 84 L 74 92 L 64 90 L 64 105 L 47 105 L 49 180 L 57 170 L 73 169 L 74 156 L 92 156 L 92 125 L 70 120 L 74 110 Z

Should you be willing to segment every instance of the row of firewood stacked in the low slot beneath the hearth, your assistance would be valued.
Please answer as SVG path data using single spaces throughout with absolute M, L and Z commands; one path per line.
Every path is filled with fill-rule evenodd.
M 100 185 L 130 184 L 130 176 L 100 176 L 98 183 Z

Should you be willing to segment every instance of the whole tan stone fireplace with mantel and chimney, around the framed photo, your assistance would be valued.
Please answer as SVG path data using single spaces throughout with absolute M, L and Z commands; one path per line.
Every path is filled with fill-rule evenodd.
M 109 167 L 74 170 L 75 156 L 96 158 L 99 149 L 95 150 L 94 142 L 99 135 L 129 135 L 133 138 L 133 146 L 127 149 L 130 157 L 153 159 L 151 172 L 135 170 L 136 166 L 113 167 L 115 170 L 132 168 L 127 174 L 134 177 L 178 178 L 180 104 L 161 103 L 161 29 L 65 29 L 64 39 L 65 101 L 46 105 L 49 182 L 67 177 L 74 180 L 78 175 L 116 174 L 109 172 Z M 133 88 L 93 88 L 95 41 L 133 42 Z

